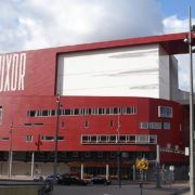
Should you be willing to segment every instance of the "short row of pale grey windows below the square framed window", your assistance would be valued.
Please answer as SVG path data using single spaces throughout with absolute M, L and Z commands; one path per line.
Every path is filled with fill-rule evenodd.
M 140 129 L 170 129 L 170 122 L 140 122 Z

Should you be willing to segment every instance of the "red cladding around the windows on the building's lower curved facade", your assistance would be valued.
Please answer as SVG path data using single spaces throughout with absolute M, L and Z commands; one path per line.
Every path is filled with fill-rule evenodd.
M 12 150 L 13 151 L 53 151 L 54 141 L 41 141 L 43 135 L 55 135 L 56 116 L 28 117 L 27 110 L 56 109 L 55 96 L 1 96 L 3 107 L 3 121 L 1 125 L 0 139 L 10 138 L 11 121 Z M 88 96 L 65 96 L 61 98 L 61 104 L 65 108 L 84 107 L 126 107 L 135 106 L 138 112 L 134 115 L 121 115 L 120 134 L 156 134 L 157 143 L 166 147 L 179 145 L 184 150 L 185 134 L 188 129 L 183 126 L 183 115 L 186 112 L 180 104 L 156 99 L 146 98 L 88 98 Z M 172 118 L 159 118 L 158 106 L 170 106 L 173 108 Z M 109 126 L 109 121 L 114 126 Z M 62 122 L 65 122 L 65 128 Z M 89 127 L 84 127 L 84 121 Z M 140 122 L 170 122 L 170 129 L 140 129 Z M 26 127 L 25 123 L 43 123 L 42 126 Z M 58 141 L 60 151 L 116 151 L 116 144 L 82 144 L 82 134 L 117 134 L 118 115 L 83 115 L 83 116 L 60 116 L 60 135 L 65 139 Z M 182 129 L 181 129 L 182 127 Z M 26 135 L 31 135 L 32 141 L 27 142 Z M 10 150 L 9 141 L 0 142 L 1 151 Z M 155 145 L 146 144 L 121 144 L 121 151 L 155 151 Z M 181 158 L 180 158 L 181 160 Z

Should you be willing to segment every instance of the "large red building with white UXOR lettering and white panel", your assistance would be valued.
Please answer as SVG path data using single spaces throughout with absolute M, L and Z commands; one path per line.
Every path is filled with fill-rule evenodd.
M 187 52 L 183 38 L 164 35 L 1 54 L 0 174 L 52 172 L 56 131 L 58 172 L 115 178 L 119 151 L 122 177 L 132 178 L 136 158 L 145 157 L 153 171 L 157 144 L 161 165 L 182 166 L 186 172 L 188 108 L 173 57 Z M 89 77 L 87 64 L 107 69 L 116 64 L 116 69 L 95 69 Z M 86 69 L 72 73 L 72 66 Z M 95 93 L 84 86 L 90 82 L 95 90 L 110 86 Z M 112 83 L 118 82 L 125 87 L 113 92 Z M 72 93 L 74 84 L 78 88 Z

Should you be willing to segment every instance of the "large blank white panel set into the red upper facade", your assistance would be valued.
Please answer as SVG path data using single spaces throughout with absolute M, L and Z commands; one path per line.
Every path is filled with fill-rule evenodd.
M 61 54 L 57 90 L 62 95 L 159 98 L 158 46 Z

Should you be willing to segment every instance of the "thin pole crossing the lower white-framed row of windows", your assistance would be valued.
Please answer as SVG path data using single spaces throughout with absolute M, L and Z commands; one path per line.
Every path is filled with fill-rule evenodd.
M 120 180 L 120 143 L 119 143 L 119 139 L 120 139 L 120 118 L 118 115 L 118 122 L 117 122 L 117 144 L 118 144 L 118 151 L 117 151 L 117 174 L 118 174 L 118 187 L 121 187 L 121 180 Z

